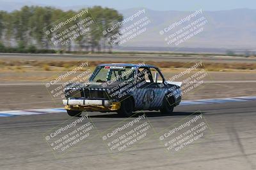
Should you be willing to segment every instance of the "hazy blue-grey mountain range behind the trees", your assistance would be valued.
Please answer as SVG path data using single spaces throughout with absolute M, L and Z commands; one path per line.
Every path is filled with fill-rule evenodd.
M 29 1 L 23 3 L 13 3 L 10 1 L 0 1 L 0 10 L 13 11 L 19 10 L 24 5 L 39 5 L 47 6 L 45 4 L 34 4 Z M 61 7 L 63 10 L 79 10 L 86 6 L 72 6 Z M 60 8 L 56 6 L 56 8 Z M 124 15 L 124 18 L 131 16 L 142 8 L 132 8 L 128 10 L 119 10 Z M 200 9 L 196 9 L 200 10 Z M 193 13 L 193 11 L 154 11 L 145 9 L 145 14 L 150 20 L 150 24 L 147 25 L 147 31 L 140 34 L 136 38 L 124 44 L 124 46 L 152 46 L 152 47 L 170 47 L 164 41 L 165 36 L 161 36 L 159 31 L 164 27 L 179 21 L 180 19 Z M 207 19 L 207 24 L 204 26 L 204 31 L 200 32 L 196 36 L 188 39 L 184 43 L 178 46 L 172 46 L 177 48 L 236 48 L 250 50 L 256 49 L 256 10 L 250 9 L 236 9 L 236 10 L 224 10 L 224 11 L 204 11 L 200 16 L 204 16 Z M 198 18 L 198 17 L 196 17 Z M 189 24 L 189 22 L 186 22 Z M 186 25 L 184 24 L 184 25 Z M 131 22 L 127 22 L 124 27 L 131 25 Z M 174 32 L 174 31 L 173 31 Z M 168 32 L 169 35 L 173 33 Z

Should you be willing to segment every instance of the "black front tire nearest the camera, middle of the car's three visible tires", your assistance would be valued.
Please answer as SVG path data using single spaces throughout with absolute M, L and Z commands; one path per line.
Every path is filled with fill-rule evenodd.
M 121 102 L 121 107 L 117 111 L 118 115 L 122 117 L 130 117 L 134 109 L 134 102 L 132 97 L 127 97 Z

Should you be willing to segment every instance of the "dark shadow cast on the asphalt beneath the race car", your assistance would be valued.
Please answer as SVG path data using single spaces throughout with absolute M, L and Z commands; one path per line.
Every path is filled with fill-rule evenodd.
M 178 111 L 173 113 L 161 113 L 158 111 L 155 112 L 135 112 L 132 117 L 138 117 L 140 115 L 145 114 L 146 117 L 174 117 L 174 116 L 189 116 L 189 115 L 199 115 L 200 113 L 195 113 L 191 111 Z M 118 115 L 117 113 L 110 113 L 110 114 L 104 114 L 104 115 L 92 115 L 90 118 L 125 118 L 121 115 Z

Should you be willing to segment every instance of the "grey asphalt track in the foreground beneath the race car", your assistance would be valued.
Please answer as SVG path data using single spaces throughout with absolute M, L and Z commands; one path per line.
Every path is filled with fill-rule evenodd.
M 0 169 L 256 169 L 255 110 L 255 101 L 246 101 L 178 106 L 175 115 L 146 112 L 154 135 L 120 153 L 110 153 L 102 135 L 136 117 L 91 112 L 90 120 L 97 127 L 91 131 L 93 138 L 58 157 L 45 132 L 77 118 L 66 113 L 0 118 Z M 161 132 L 195 112 L 204 115 L 211 134 L 182 153 L 166 152 L 159 142 Z

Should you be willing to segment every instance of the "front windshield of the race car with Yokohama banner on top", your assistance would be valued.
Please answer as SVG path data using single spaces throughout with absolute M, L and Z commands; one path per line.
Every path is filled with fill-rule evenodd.
M 127 66 L 98 66 L 93 72 L 90 81 L 132 81 L 134 67 Z

